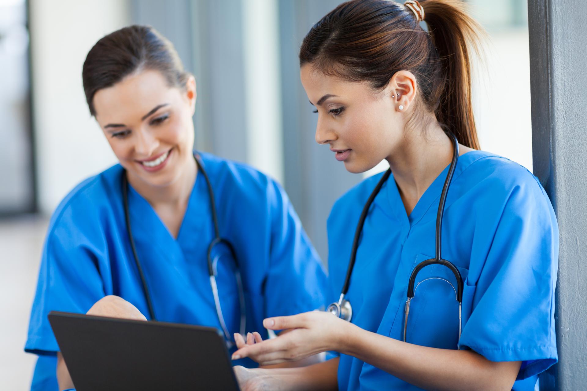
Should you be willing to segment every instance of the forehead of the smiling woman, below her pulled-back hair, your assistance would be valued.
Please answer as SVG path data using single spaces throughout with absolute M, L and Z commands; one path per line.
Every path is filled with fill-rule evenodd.
M 112 87 L 98 90 L 94 95 L 96 120 L 102 122 L 133 121 L 149 113 L 153 107 L 171 103 L 178 91 L 167 84 L 158 71 L 132 73 Z

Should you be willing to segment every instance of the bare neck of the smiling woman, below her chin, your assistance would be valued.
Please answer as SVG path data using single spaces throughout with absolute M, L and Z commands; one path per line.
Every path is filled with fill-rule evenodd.
M 129 172 L 126 172 L 126 176 L 130 185 L 154 209 L 157 209 L 158 206 L 181 208 L 190 198 L 197 172 L 198 167 L 195 164 L 195 159 L 188 155 L 188 159 L 182 164 L 180 176 L 166 186 L 150 185 L 135 175 L 129 175 Z

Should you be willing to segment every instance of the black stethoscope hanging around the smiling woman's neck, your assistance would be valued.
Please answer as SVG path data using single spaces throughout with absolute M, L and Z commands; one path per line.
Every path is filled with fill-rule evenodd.
M 206 185 L 208 187 L 208 196 L 210 197 L 210 209 L 212 212 L 212 221 L 214 222 L 215 237 L 212 240 L 212 242 L 210 242 L 210 245 L 208 246 L 208 255 L 207 255 L 208 274 L 210 274 L 210 286 L 212 288 L 212 295 L 214 295 L 214 304 L 216 307 L 216 314 L 218 315 L 218 321 L 220 321 L 220 326 L 222 327 L 222 331 L 224 332 L 224 336 L 227 341 L 227 345 L 229 348 L 231 348 L 232 345 L 234 344 L 234 342 L 232 342 L 231 334 L 230 334 L 230 332 L 228 332 L 226 322 L 224 321 L 224 315 L 222 315 L 222 307 L 220 306 L 220 297 L 218 296 L 218 285 L 216 283 L 216 275 L 217 275 L 217 271 L 218 271 L 217 264 L 218 264 L 218 260 L 220 260 L 220 258 L 221 258 L 222 252 L 217 251 L 214 253 L 215 255 L 212 256 L 212 251 L 214 250 L 214 248 L 218 247 L 218 246 L 227 247 L 228 251 L 230 252 L 230 254 L 232 256 L 232 259 L 234 260 L 235 277 L 236 277 L 237 285 L 238 285 L 238 299 L 239 299 L 239 304 L 241 306 L 241 323 L 240 323 L 239 331 L 242 335 L 244 335 L 246 321 L 247 321 L 247 311 L 246 311 L 247 309 L 245 307 L 245 294 L 244 294 L 244 289 L 242 287 L 241 272 L 239 271 L 239 268 L 238 268 L 237 254 L 234 251 L 234 247 L 232 247 L 232 244 L 230 242 L 228 242 L 228 240 L 222 239 L 222 237 L 220 237 L 220 229 L 218 229 L 218 217 L 216 215 L 216 204 L 214 202 L 214 191 L 212 191 L 212 185 L 210 183 L 210 178 L 208 178 L 208 174 L 206 174 L 206 171 L 204 170 L 203 164 L 200 161 L 200 157 L 198 157 L 198 155 L 194 154 L 194 159 L 195 159 L 195 163 L 198 165 L 198 172 L 200 172 L 202 175 L 204 175 L 204 179 L 206 180 Z M 141 278 L 141 283 L 143 284 L 145 298 L 147 299 L 147 307 L 149 307 L 149 315 L 151 317 L 151 320 L 156 320 L 155 311 L 153 308 L 153 301 L 151 301 L 149 287 L 147 287 L 147 280 L 144 276 L 143 268 L 141 267 L 141 264 L 139 262 L 139 256 L 137 254 L 137 249 L 134 246 L 133 232 L 130 228 L 128 188 L 129 188 L 129 185 L 128 185 L 128 180 L 126 178 L 126 172 L 123 172 L 123 175 L 122 175 L 122 198 L 123 198 L 123 203 L 124 203 L 124 217 L 126 219 L 126 230 L 127 230 L 127 233 L 129 234 L 130 247 L 133 250 L 134 262 L 137 265 L 137 270 L 139 270 L 139 276 Z

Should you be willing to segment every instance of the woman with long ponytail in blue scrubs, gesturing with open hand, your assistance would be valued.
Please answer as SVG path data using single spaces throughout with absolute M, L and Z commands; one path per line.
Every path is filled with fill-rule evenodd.
M 316 141 L 350 172 L 382 159 L 390 172 L 351 189 L 328 219 L 330 300 L 352 303 L 350 322 L 306 312 L 265 319 L 266 328 L 288 329 L 269 341 L 235 335 L 233 358 L 335 357 L 306 368 L 238 368 L 244 390 L 534 390 L 556 363 L 556 218 L 527 169 L 479 149 L 470 54 L 480 33 L 460 0 L 354 0 L 306 35 L 299 58 Z M 435 250 L 462 288 L 456 272 L 429 264 L 407 305 L 414 268 Z M 462 308 L 447 282 L 462 292 Z

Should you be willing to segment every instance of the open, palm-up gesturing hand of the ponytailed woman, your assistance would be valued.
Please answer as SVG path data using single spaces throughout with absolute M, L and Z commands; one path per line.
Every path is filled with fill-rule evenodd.
M 232 354 L 236 360 L 249 357 L 261 365 L 298 361 L 325 351 L 338 351 L 346 327 L 350 323 L 330 312 L 312 311 L 291 317 L 267 318 L 265 328 L 285 330 L 278 337 L 261 341 L 260 336 L 244 339 L 235 336 L 239 348 Z

